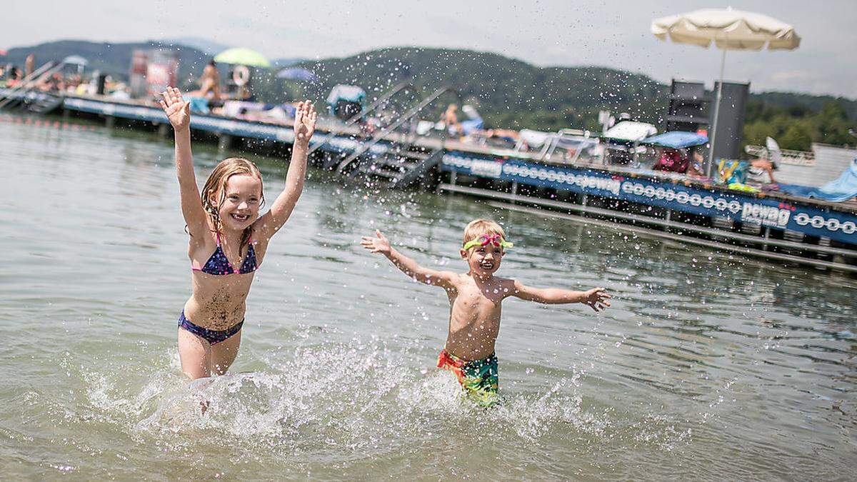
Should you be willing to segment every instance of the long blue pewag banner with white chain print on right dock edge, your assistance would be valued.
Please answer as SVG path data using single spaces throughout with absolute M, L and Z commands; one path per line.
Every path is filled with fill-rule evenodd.
M 857 244 L 857 236 L 854 235 L 857 232 L 857 216 L 794 202 L 706 190 L 649 178 L 630 178 L 593 169 L 544 166 L 523 160 L 487 158 L 461 152 L 444 154 L 441 169 L 479 178 L 638 202 L 685 213 L 723 216 Z

